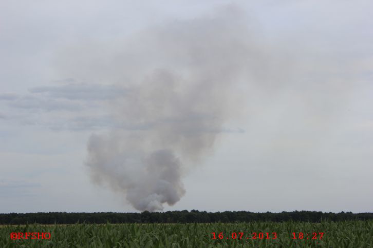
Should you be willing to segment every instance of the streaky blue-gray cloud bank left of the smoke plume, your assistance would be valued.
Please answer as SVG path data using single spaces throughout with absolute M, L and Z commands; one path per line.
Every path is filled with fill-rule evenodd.
M 24 95 L 0 94 L 5 107 L 0 118 L 7 116 L 7 119 L 22 125 L 37 125 L 53 130 L 81 131 L 124 126 L 107 115 L 103 106 L 104 102 L 125 97 L 127 90 L 113 85 L 70 83 L 74 82 L 72 78 L 62 82 L 69 84 L 34 87 Z M 43 114 L 36 116 L 36 112 Z

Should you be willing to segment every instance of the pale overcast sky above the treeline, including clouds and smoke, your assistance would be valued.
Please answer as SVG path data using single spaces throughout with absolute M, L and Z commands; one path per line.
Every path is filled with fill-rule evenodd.
M 2 1 L 0 213 L 372 212 L 372 8 Z

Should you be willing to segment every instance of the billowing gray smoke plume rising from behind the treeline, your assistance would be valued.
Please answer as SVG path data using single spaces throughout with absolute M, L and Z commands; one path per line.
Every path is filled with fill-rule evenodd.
M 152 27 L 116 45 L 107 70 L 126 89 L 110 106 L 117 123 L 92 135 L 87 166 L 137 210 L 159 211 L 185 194 L 182 175 L 212 151 L 240 109 L 239 82 L 259 57 L 243 15 Z M 113 58 L 114 57 L 114 58 Z

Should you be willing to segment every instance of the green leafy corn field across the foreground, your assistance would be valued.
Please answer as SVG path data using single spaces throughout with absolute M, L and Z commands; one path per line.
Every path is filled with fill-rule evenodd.
M 3 225 L 0 247 L 373 247 L 373 221 Z

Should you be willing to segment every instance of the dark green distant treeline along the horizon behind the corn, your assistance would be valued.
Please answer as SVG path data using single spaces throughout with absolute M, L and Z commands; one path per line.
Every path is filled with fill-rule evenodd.
M 249 221 L 310 221 L 320 222 L 344 220 L 369 220 L 373 213 L 353 214 L 351 212 L 323 213 L 316 211 L 295 211 L 282 213 L 252 213 L 246 211 L 206 212 L 192 210 L 167 211 L 163 213 L 27 213 L 0 214 L 0 224 L 74 224 L 74 223 L 210 223 L 210 222 L 249 222 Z

